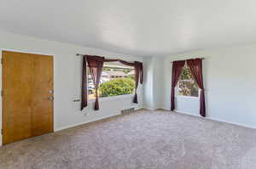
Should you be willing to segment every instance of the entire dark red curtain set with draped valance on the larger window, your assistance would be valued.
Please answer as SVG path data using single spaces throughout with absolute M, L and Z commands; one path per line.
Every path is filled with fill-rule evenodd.
M 91 55 L 84 55 L 83 59 L 83 72 L 82 72 L 82 102 L 81 102 L 81 110 L 87 106 L 87 75 L 86 75 L 86 61 L 88 63 L 88 67 L 90 68 L 90 74 L 92 76 L 95 88 L 96 88 L 96 104 L 95 110 L 99 110 L 99 96 L 98 96 L 98 87 L 102 75 L 102 68 L 104 62 L 120 62 L 123 65 L 133 66 L 135 70 L 135 95 L 133 98 L 133 103 L 138 103 L 137 101 L 137 87 L 138 83 L 140 82 L 143 84 L 143 63 L 142 62 L 127 62 L 122 59 L 105 59 L 104 57 L 100 56 L 91 56 Z M 85 63 L 84 63 L 85 62 Z M 85 68 L 84 68 L 85 66 Z M 85 79 L 84 79 L 85 78 Z M 85 92 L 86 90 L 86 92 Z

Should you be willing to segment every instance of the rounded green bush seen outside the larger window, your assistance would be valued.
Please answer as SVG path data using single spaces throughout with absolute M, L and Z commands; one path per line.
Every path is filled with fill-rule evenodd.
M 101 97 L 118 96 L 131 94 L 134 91 L 135 82 L 131 78 L 115 78 L 108 82 L 103 82 L 100 87 Z

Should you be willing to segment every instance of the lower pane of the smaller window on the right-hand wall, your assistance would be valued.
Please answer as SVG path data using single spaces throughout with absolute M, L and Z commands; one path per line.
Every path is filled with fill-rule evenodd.
M 179 81 L 178 95 L 198 97 L 198 86 L 195 81 Z

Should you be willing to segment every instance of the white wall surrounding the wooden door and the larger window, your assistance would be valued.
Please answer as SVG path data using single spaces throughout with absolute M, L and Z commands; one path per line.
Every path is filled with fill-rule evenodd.
M 93 104 L 83 111 L 79 110 L 80 102 L 73 102 L 73 99 L 80 99 L 81 86 L 81 57 L 75 54 L 96 54 L 108 58 L 120 58 L 125 60 L 143 61 L 141 57 L 115 54 L 112 52 L 96 49 L 84 48 L 72 44 L 52 42 L 33 37 L 25 37 L 0 31 L 0 52 L 1 50 L 19 51 L 33 54 L 54 55 L 54 129 L 72 127 L 81 123 L 96 121 L 112 115 L 118 115 L 120 110 L 125 108 L 143 107 L 143 87 L 139 86 L 139 104 L 132 103 L 132 95 L 118 96 L 117 98 L 101 99 L 100 110 L 93 110 Z M 2 52 L 1 52 L 2 54 Z M 2 69 L 1 69 L 2 71 Z M 2 72 L 0 72 L 2 76 Z M 2 77 L 0 77 L 2 81 Z M 2 85 L 2 82 L 0 82 Z M 2 98 L 1 98 L 2 99 Z M 2 102 L 2 100 L 0 100 Z M 2 112 L 2 104 L 0 104 Z M 0 113 L 0 129 L 2 128 L 2 113 Z M 0 134 L 0 145 L 2 135 Z

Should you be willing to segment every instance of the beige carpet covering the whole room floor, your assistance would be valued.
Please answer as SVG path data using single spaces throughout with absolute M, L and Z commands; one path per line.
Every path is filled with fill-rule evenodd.
M 254 169 L 256 130 L 140 110 L 3 146 L 0 168 Z

